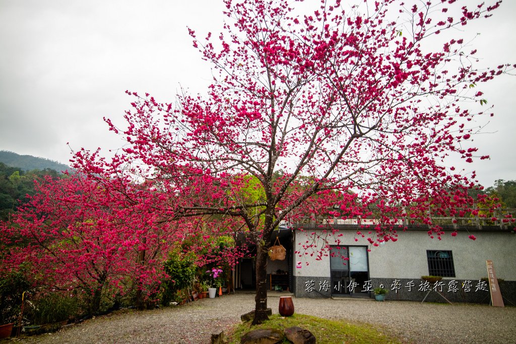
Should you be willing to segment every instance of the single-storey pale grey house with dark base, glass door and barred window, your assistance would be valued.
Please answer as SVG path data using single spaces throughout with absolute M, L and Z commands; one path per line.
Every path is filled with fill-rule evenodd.
M 499 285 L 504 301 L 516 304 L 514 228 L 456 228 L 457 236 L 447 233 L 439 240 L 430 238 L 428 228 L 415 227 L 399 232 L 396 242 L 373 247 L 357 235 L 357 225 L 301 226 L 292 231 L 289 287 L 296 297 L 368 298 L 383 287 L 390 290 L 388 300 L 489 303 L 486 261 L 491 260 L 504 280 Z M 314 248 L 305 249 L 312 243 Z M 443 279 L 428 284 L 422 280 L 426 275 Z

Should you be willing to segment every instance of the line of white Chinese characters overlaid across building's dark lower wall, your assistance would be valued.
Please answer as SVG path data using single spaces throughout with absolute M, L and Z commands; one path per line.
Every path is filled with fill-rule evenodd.
M 399 280 L 394 280 L 390 286 L 391 291 L 398 293 L 401 288 L 405 288 L 407 291 L 417 290 L 417 291 L 438 291 L 438 292 L 457 292 L 459 290 L 463 290 L 464 292 L 478 292 L 478 291 L 489 291 L 488 283 L 486 281 L 464 281 L 460 283 L 456 280 L 448 281 L 446 284 L 443 281 L 437 281 L 433 284 L 428 281 L 421 281 L 416 287 L 416 283 L 414 280 L 405 283 L 402 285 Z M 309 280 L 304 283 L 305 289 L 304 291 L 312 292 L 314 290 L 317 291 L 328 291 L 330 290 L 330 282 L 327 280 L 319 281 L 317 284 L 314 280 Z M 380 288 L 385 288 L 383 284 L 380 285 Z M 346 292 L 368 292 L 374 289 L 372 285 L 372 281 L 365 281 L 363 285 L 359 285 L 354 280 L 351 280 L 349 284 L 342 284 L 341 281 L 338 281 L 333 289 L 337 292 L 346 291 Z

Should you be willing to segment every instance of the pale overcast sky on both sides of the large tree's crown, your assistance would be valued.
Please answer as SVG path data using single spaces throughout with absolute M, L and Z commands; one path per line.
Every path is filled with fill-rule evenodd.
M 119 148 L 102 118 L 123 124 L 126 89 L 164 102 L 181 86 L 205 90 L 209 65 L 186 26 L 219 32 L 222 9 L 218 0 L 0 0 L 0 150 L 68 163 L 67 142 L 74 150 Z M 516 63 L 514 14 L 516 2 L 505 0 L 491 19 L 466 26 L 464 38 L 481 32 L 473 45 L 482 62 Z M 475 144 L 491 159 L 467 168 L 490 186 L 516 179 L 516 77 L 482 91 L 495 117 Z

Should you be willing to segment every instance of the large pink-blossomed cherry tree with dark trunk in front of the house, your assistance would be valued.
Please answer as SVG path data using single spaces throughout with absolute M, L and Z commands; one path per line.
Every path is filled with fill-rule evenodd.
M 213 66 L 207 93 L 161 103 L 127 91 L 127 127 L 106 119 L 127 144 L 112 161 L 81 151 L 75 166 L 144 179 L 170 195 L 153 206 L 174 219 L 239 219 L 258 247 L 256 324 L 267 319 L 267 247 L 281 221 L 328 209 L 374 217 L 367 239 L 378 244 L 397 240 L 399 219 L 440 239 L 433 215 L 470 211 L 475 173 L 453 163 L 488 158 L 472 144 L 476 119 L 489 116 L 481 85 L 514 66 L 478 70 L 465 31 L 499 1 L 322 1 L 305 15 L 308 5 L 287 0 L 224 3 L 223 33 L 189 29 Z

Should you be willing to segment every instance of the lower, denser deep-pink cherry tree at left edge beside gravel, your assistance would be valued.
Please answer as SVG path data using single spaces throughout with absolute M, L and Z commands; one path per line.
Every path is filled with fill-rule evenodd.
M 0 274 L 24 266 L 35 286 L 73 292 L 89 314 L 99 313 L 111 293 L 136 290 L 137 303 L 152 298 L 164 277 L 163 256 L 182 231 L 147 212 L 153 200 L 149 192 L 139 200 L 141 188 L 132 190 L 138 202 L 131 203 L 78 174 L 36 182 L 36 194 L 0 225 Z

